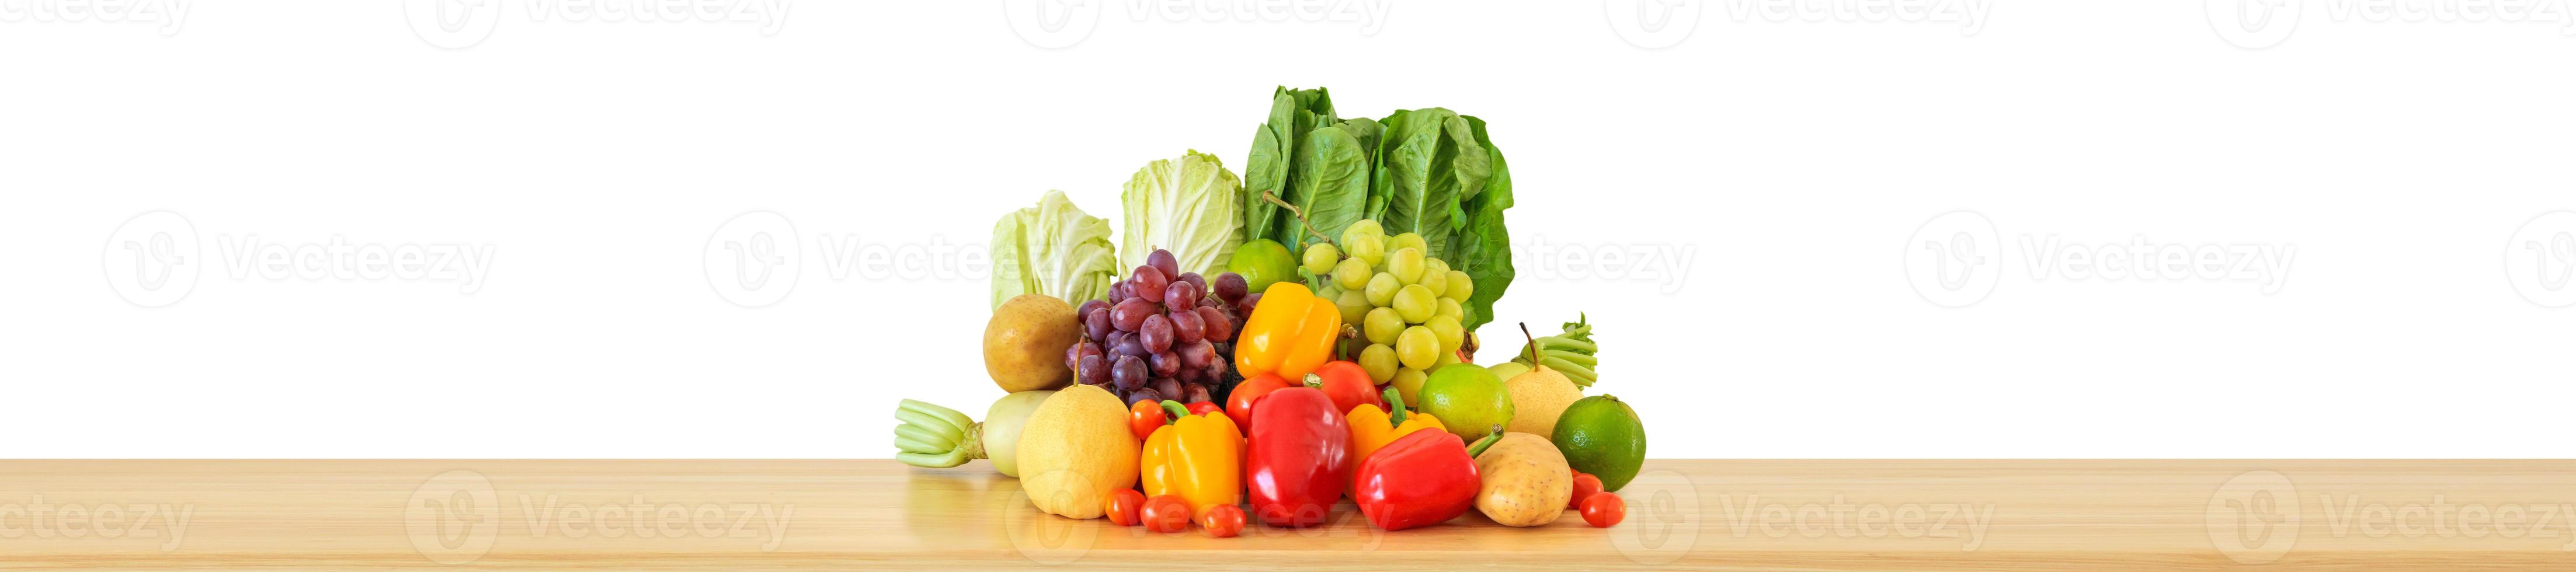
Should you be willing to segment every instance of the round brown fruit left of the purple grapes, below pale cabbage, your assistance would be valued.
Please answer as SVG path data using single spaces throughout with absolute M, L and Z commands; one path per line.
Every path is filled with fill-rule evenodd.
M 1082 322 L 1074 307 L 1046 294 L 1020 294 L 992 309 L 984 322 L 984 374 L 1002 392 L 1064 389 L 1074 384 L 1074 368 L 1064 366 L 1064 348 L 1082 340 Z

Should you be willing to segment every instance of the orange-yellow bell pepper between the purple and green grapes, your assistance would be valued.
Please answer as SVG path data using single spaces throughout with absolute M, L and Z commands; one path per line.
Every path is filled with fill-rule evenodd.
M 1252 317 L 1244 317 L 1244 332 L 1234 335 L 1234 371 L 1244 379 L 1260 374 L 1306 379 L 1332 361 L 1340 338 L 1340 307 L 1314 296 L 1303 283 L 1270 283 Z

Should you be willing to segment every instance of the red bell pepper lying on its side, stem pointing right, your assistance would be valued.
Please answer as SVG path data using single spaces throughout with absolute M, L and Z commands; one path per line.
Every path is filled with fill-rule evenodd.
M 1476 453 L 1497 438 L 1502 430 L 1468 448 L 1445 430 L 1404 433 L 1360 461 L 1360 484 L 1350 497 L 1368 523 L 1386 531 L 1448 523 L 1476 508 L 1476 492 L 1484 487 Z

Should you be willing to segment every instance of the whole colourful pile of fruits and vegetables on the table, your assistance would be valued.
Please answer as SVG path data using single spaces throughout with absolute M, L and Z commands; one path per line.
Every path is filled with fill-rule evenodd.
M 1118 242 L 1061 191 L 1002 214 L 984 368 L 1007 394 L 984 423 L 904 399 L 896 461 L 992 459 L 1036 510 L 1164 533 L 1321 526 L 1345 497 L 1386 531 L 1625 515 L 1646 430 L 1584 394 L 1589 317 L 1481 330 L 1512 283 L 1484 119 L 1280 88 L 1242 165 L 1144 165 Z M 1512 358 L 1479 366 L 1497 340 Z

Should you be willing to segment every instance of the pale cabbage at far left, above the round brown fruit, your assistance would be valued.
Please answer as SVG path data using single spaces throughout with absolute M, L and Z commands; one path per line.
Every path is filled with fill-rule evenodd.
M 992 224 L 992 307 L 1020 294 L 1082 304 L 1105 299 L 1110 281 L 1118 281 L 1110 222 L 1084 214 L 1064 191 L 1046 191 L 1038 206 Z

